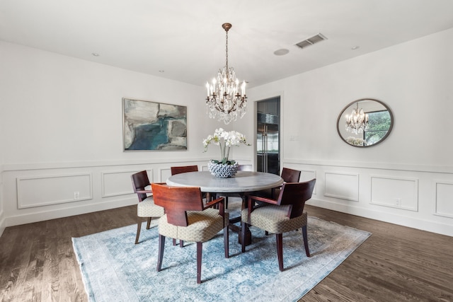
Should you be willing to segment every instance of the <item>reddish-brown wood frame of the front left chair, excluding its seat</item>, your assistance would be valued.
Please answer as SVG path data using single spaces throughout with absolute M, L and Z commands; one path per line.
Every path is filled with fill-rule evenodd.
M 217 206 L 219 215 L 224 217 L 224 198 L 214 199 L 203 204 L 200 187 L 170 187 L 164 183 L 151 184 L 154 191 L 155 204 L 164 207 L 168 223 L 175 226 L 188 226 L 187 211 L 204 211 Z M 197 242 L 197 284 L 201 283 L 202 242 Z M 165 236 L 159 233 L 159 255 L 157 271 L 162 268 L 164 258 Z M 229 231 L 228 222 L 224 219 L 224 252 L 225 258 L 229 257 Z

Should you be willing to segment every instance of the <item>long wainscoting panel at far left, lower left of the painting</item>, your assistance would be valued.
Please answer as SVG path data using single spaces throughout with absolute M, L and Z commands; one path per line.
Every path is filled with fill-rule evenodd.
M 91 173 L 16 178 L 18 209 L 93 199 Z

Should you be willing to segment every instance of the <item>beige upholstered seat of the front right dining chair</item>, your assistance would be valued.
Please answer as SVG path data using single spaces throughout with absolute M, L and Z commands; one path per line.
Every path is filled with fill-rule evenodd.
M 288 210 L 289 205 L 278 206 L 270 204 L 257 207 L 251 212 L 250 224 L 269 233 L 285 233 L 306 226 L 306 211 L 301 216 L 289 219 L 287 217 Z M 241 219 L 242 221 L 248 220 L 248 209 L 242 210 Z

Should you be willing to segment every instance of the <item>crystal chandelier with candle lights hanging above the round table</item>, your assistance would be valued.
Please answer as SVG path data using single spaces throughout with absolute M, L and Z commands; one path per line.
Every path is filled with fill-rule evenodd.
M 246 114 L 246 81 L 239 86 L 233 67 L 228 67 L 228 30 L 231 24 L 224 23 L 222 28 L 226 33 L 226 64 L 219 69 L 217 78 L 212 79 L 211 84 L 206 83 L 206 110 L 210 118 L 217 116 L 217 120 L 229 124 L 237 120 L 238 115 L 242 118 Z

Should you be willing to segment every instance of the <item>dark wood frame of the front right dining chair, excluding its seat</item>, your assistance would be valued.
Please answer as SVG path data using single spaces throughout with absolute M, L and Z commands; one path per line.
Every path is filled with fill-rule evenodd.
M 295 217 L 301 216 L 304 212 L 305 202 L 311 198 L 313 193 L 314 185 L 316 179 L 309 180 L 307 182 L 287 182 L 282 185 L 282 190 L 277 199 L 270 199 L 259 196 L 248 196 L 248 222 L 251 223 L 251 213 L 258 207 L 265 207 L 265 205 L 260 205 L 255 207 L 255 202 L 264 202 L 265 204 L 276 204 L 276 205 L 289 205 L 289 210 L 287 217 L 293 219 Z M 244 243 L 246 239 L 246 222 L 241 222 L 241 242 Z M 302 226 L 302 236 L 304 238 L 304 248 L 306 257 L 310 257 L 308 237 L 306 233 L 306 225 Z M 282 233 L 275 234 L 275 239 L 277 241 L 277 258 L 278 258 L 278 267 L 280 271 L 283 271 L 283 236 Z M 246 251 L 246 245 L 242 244 L 242 252 Z

